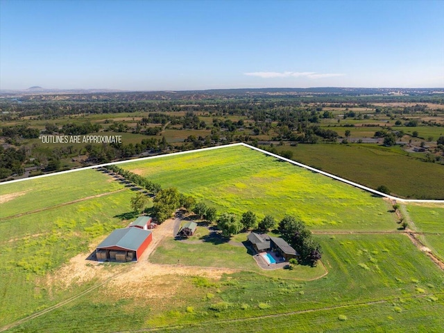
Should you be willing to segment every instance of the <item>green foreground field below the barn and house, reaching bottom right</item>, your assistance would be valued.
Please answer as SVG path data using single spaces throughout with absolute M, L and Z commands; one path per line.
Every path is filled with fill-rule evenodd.
M 135 293 L 132 284 L 119 290 L 105 285 L 12 332 L 53 327 L 60 332 L 157 327 L 168 332 L 263 332 L 264 327 L 314 332 L 314 325 L 324 332 L 441 330 L 443 273 L 407 236 L 317 239 L 330 271 L 321 279 L 301 282 L 241 272 L 220 280 L 153 277 L 150 284 L 142 283 L 143 293 Z

